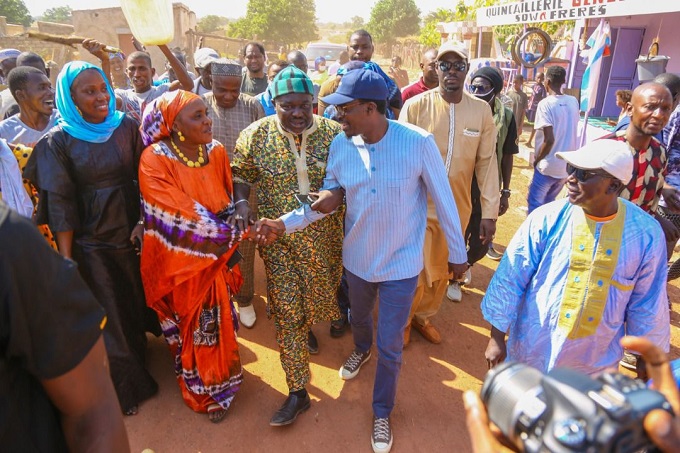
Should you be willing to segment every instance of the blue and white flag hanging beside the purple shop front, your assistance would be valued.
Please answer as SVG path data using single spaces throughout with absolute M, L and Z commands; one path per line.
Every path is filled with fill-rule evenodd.
M 602 69 L 602 58 L 609 56 L 609 46 L 611 45 L 611 34 L 609 22 L 604 19 L 600 20 L 600 25 L 588 41 L 586 46 L 590 47 L 582 52 L 588 64 L 586 71 L 583 73 L 581 81 L 581 111 L 589 112 L 595 107 L 597 101 L 597 88 L 600 84 L 600 70 Z

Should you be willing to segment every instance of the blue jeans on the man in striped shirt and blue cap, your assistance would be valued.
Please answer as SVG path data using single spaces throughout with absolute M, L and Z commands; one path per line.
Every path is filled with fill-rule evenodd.
M 397 394 L 397 381 L 404 349 L 404 329 L 408 322 L 418 276 L 404 280 L 367 282 L 345 270 L 349 283 L 352 335 L 357 351 L 366 352 L 373 344 L 373 306 L 378 301 L 378 366 L 373 383 L 373 414 L 390 416 Z

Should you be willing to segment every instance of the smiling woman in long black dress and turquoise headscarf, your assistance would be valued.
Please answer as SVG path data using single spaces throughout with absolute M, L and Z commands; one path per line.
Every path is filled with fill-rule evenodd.
M 144 144 L 139 124 L 116 111 L 100 68 L 66 64 L 55 99 L 61 118 L 36 144 L 24 177 L 40 193 L 38 223 L 50 226 L 59 253 L 78 263 L 106 310 L 101 327 L 111 377 L 123 411 L 132 415 L 158 390 L 144 355 L 145 328 L 160 329 L 146 311 L 135 251 L 143 234 L 137 167 Z

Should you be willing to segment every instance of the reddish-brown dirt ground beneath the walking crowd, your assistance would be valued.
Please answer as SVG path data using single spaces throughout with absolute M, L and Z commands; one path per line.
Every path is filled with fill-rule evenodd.
M 526 138 L 526 134 L 524 134 Z M 521 144 L 522 145 L 522 144 Z M 521 146 L 521 156 L 528 151 Z M 528 163 L 515 159 L 508 213 L 498 221 L 496 243 L 501 250 L 526 216 L 526 192 L 531 177 Z M 416 331 L 405 349 L 397 403 L 392 413 L 393 452 L 466 452 L 469 436 L 464 422 L 462 392 L 479 390 L 486 373 L 484 349 L 489 326 L 480 302 L 497 266 L 483 258 L 472 270 L 472 283 L 463 301 L 444 300 L 434 318 L 443 341 L 428 343 Z M 370 452 L 371 395 L 375 355 L 353 380 L 343 381 L 338 369 L 352 351 L 351 333 L 335 339 L 328 323 L 314 326 L 320 353 L 312 356 L 308 387 L 312 407 L 290 426 L 274 428 L 269 419 L 287 395 L 278 358 L 273 322 L 265 314 L 265 277 L 256 260 L 253 329 L 239 332 L 244 384 L 220 424 L 186 407 L 173 373 L 165 342 L 150 337 L 149 368 L 159 383 L 156 397 L 143 403 L 125 424 L 133 452 Z M 674 311 L 680 309 L 680 289 L 669 286 Z M 671 315 L 672 358 L 680 357 L 680 316 Z M 148 452 L 147 452 L 148 453 Z

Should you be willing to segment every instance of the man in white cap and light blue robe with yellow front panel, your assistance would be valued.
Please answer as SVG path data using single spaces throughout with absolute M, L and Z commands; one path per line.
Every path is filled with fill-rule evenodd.
M 557 158 L 566 164 L 568 197 L 529 214 L 482 300 L 489 368 L 507 357 L 542 372 L 616 369 L 624 333 L 667 352 L 663 233 L 619 197 L 633 174 L 628 146 L 597 140 Z

